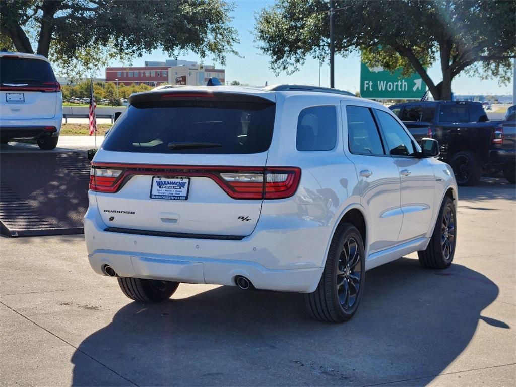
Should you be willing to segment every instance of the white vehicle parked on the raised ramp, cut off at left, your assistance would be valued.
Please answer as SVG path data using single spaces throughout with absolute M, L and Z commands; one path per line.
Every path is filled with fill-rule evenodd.
M 35 138 L 57 146 L 63 117 L 61 86 L 42 55 L 0 52 L 0 142 Z

